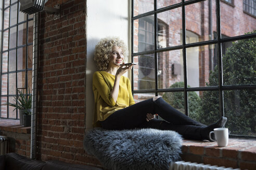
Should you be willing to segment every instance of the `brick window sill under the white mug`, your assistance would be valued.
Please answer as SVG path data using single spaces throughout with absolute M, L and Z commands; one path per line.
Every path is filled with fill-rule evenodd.
M 184 140 L 183 161 L 240 169 L 256 169 L 256 140 L 229 138 L 228 146 L 216 142 Z

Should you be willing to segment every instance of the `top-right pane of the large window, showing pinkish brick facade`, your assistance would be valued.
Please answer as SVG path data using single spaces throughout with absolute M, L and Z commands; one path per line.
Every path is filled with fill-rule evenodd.
M 220 3 L 223 35 L 228 37 L 244 35 L 256 29 L 256 18 L 243 11 L 243 1 L 236 1 L 235 8 L 224 2 Z

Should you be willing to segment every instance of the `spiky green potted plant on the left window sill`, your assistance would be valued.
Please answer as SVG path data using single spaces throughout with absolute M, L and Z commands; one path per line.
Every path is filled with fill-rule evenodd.
M 17 96 L 14 97 L 14 103 L 4 103 L 14 107 L 14 110 L 19 109 L 20 124 L 25 127 L 31 126 L 31 112 L 32 112 L 32 94 L 24 94 L 24 91 L 17 90 Z

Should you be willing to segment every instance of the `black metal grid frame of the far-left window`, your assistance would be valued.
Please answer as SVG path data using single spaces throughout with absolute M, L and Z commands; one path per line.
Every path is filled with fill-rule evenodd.
M 11 10 L 10 10 L 10 8 L 11 8 L 11 6 L 14 6 L 14 5 L 17 5 L 17 23 L 16 24 L 14 24 L 14 25 L 10 25 L 10 15 L 11 15 Z M 20 6 L 20 3 L 19 3 L 19 1 L 16 1 L 16 2 L 14 2 L 14 3 L 11 3 L 11 1 L 10 1 L 10 4 L 8 5 L 8 6 L 6 6 L 5 7 L 5 1 L 3 2 L 3 7 L 2 7 L 2 9 L 3 9 L 3 13 L 2 13 L 2 23 L 0 23 L 0 24 L 2 24 L 2 28 L 3 28 L 3 30 L 2 30 L 2 39 L 1 39 L 1 41 L 2 41 L 2 47 L 1 47 L 1 49 L 2 49 L 2 51 L 1 51 L 1 77 L 0 77 L 0 97 L 2 98 L 2 97 L 7 97 L 7 102 L 10 102 L 9 101 L 9 97 L 14 97 L 14 96 L 16 96 L 17 94 L 9 94 L 9 74 L 13 74 L 13 73 L 16 73 L 16 93 L 17 93 L 17 89 L 25 89 L 25 90 L 27 90 L 28 91 L 28 71 L 30 71 L 30 70 L 32 70 L 32 68 L 28 68 L 28 46 L 31 46 L 31 45 L 33 45 L 33 42 L 32 43 L 29 43 L 28 42 L 28 37 L 29 37 L 29 21 L 33 21 L 33 17 L 32 18 L 29 18 L 29 15 L 26 15 L 27 16 L 27 18 L 26 18 L 26 20 L 24 20 L 24 21 L 21 21 L 21 22 L 19 22 L 19 11 L 18 11 L 18 9 L 19 9 L 19 6 Z M 6 9 L 8 9 L 9 8 L 9 25 L 8 25 L 8 27 L 7 28 L 5 28 L 4 29 L 4 11 L 6 10 Z M 24 23 L 26 23 L 26 42 L 25 42 L 25 44 L 24 45 L 20 45 L 20 46 L 18 46 L 18 26 L 19 25 L 21 25 L 21 24 L 24 24 Z M 9 41 L 8 41 L 8 49 L 7 50 L 4 50 L 3 51 L 3 41 L 4 41 L 4 32 L 5 31 L 7 31 L 7 30 L 9 30 L 9 32 L 8 32 L 8 40 L 9 40 L 9 38 L 10 38 L 10 29 L 12 29 L 12 28 L 15 28 L 16 27 L 16 47 L 14 47 L 14 48 L 11 48 L 11 49 L 9 49 Z M 20 70 L 17 70 L 17 55 L 18 55 L 18 49 L 20 49 L 20 48 L 24 48 L 25 47 L 25 69 L 20 69 Z M 16 70 L 14 70 L 14 71 L 11 71 L 11 72 L 9 72 L 9 51 L 12 51 L 12 50 L 16 50 Z M 2 59 L 3 59 L 3 53 L 6 53 L 6 52 L 8 52 L 8 71 L 7 72 L 4 72 L 3 73 L 3 69 L 2 69 Z M 18 88 L 17 86 L 18 86 L 18 83 L 17 83 L 17 74 L 18 73 L 21 73 L 21 72 L 25 72 L 25 87 L 24 88 Z M 2 95 L 2 76 L 3 75 L 8 75 L 8 80 L 7 80 L 7 94 L 5 94 L 5 95 Z M 2 100 L 0 100 L 0 104 L 2 104 L 1 103 L 1 101 Z M 0 118 L 5 118 L 5 117 L 2 117 L 2 114 L 1 114 L 2 112 L 1 112 L 1 108 L 0 108 Z M 9 106 L 7 106 L 7 119 L 18 119 L 18 110 L 16 109 L 16 118 L 9 118 Z

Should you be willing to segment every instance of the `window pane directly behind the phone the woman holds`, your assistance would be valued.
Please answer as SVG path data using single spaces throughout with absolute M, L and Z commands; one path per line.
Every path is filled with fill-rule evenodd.
M 155 89 L 154 54 L 134 56 L 133 61 L 138 61 L 133 68 L 134 90 Z

